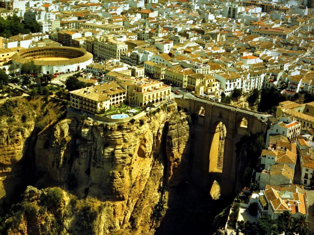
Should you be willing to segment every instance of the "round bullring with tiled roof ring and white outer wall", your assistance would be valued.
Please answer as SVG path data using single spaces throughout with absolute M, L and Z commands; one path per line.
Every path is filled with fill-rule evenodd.
M 33 60 L 40 66 L 41 73 L 48 74 L 85 69 L 93 62 L 93 55 L 76 47 L 34 47 L 15 53 L 11 59 L 18 68 Z

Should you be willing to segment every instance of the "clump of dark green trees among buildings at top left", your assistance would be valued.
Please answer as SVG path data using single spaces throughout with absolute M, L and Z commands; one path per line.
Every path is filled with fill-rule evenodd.
M 31 20 L 27 23 L 17 15 L 8 16 L 7 19 L 0 17 L 0 36 L 11 37 L 17 34 L 29 34 L 40 32 L 40 25 L 36 20 Z

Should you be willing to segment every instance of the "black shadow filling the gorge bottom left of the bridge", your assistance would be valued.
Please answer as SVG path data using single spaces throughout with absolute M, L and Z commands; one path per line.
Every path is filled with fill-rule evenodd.
M 181 161 L 176 167 L 176 173 L 182 174 L 185 172 L 185 174 L 181 175 L 180 180 L 178 177 L 175 177 L 174 180 L 171 177 L 165 186 L 165 191 L 168 192 L 168 200 L 166 202 L 165 215 L 155 232 L 157 235 L 202 234 L 204 231 L 208 231 L 209 233 L 214 217 L 226 204 L 223 201 L 213 201 L 208 187 L 202 188 L 193 182 L 191 177 L 193 158 L 192 128 L 190 128 L 188 138 L 190 144 L 186 145 L 183 150 L 186 161 Z M 162 144 L 166 147 L 166 138 L 163 138 Z M 162 147 L 161 149 L 166 148 Z M 164 172 L 164 177 L 167 178 L 170 163 L 167 162 L 166 152 L 162 153 L 161 156 L 164 156 L 162 160 L 165 169 L 167 169 L 167 172 Z M 158 217 L 156 219 L 158 220 Z

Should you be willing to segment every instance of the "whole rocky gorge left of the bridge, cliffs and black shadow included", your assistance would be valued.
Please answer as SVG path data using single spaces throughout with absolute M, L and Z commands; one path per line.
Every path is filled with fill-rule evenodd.
M 173 234 L 196 231 L 198 223 L 208 227 L 211 197 L 189 175 L 193 127 L 186 112 L 174 103 L 135 123 L 108 125 L 66 118 L 62 105 L 20 99 L 2 115 L 3 234 Z

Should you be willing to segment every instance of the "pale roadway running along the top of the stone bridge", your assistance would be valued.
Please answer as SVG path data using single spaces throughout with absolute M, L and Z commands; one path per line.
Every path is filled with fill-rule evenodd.
M 176 91 L 177 89 L 180 89 L 179 87 L 172 87 L 171 90 L 172 91 Z M 228 105 L 224 105 L 224 104 L 221 104 L 221 103 L 216 103 L 216 102 L 212 102 L 212 101 L 205 101 L 203 99 L 199 99 L 197 97 L 195 97 L 192 93 L 190 92 L 183 92 L 183 91 L 180 91 L 180 95 L 176 95 L 174 93 L 172 93 L 172 97 L 175 97 L 175 98 L 181 98 L 184 94 L 184 98 L 186 99 L 192 99 L 192 100 L 197 100 L 197 101 L 200 101 L 200 102 L 204 102 L 204 103 L 210 103 L 210 104 L 213 104 L 213 105 L 216 105 L 218 107 L 223 107 L 223 108 L 227 108 L 227 109 L 232 109 L 232 110 L 236 110 L 237 112 L 242 112 L 242 113 L 246 113 L 246 114 L 251 114 L 259 119 L 261 119 L 261 117 L 264 117 L 265 119 L 261 119 L 263 120 L 263 122 L 266 122 L 267 123 L 267 120 L 268 118 L 267 117 L 271 117 L 273 115 L 271 114 L 259 114 L 259 113 L 255 113 L 255 112 L 252 112 L 248 109 L 246 110 L 243 110 L 243 109 L 240 109 L 240 108 L 237 108 L 236 106 L 233 106 L 233 107 L 230 107 Z

